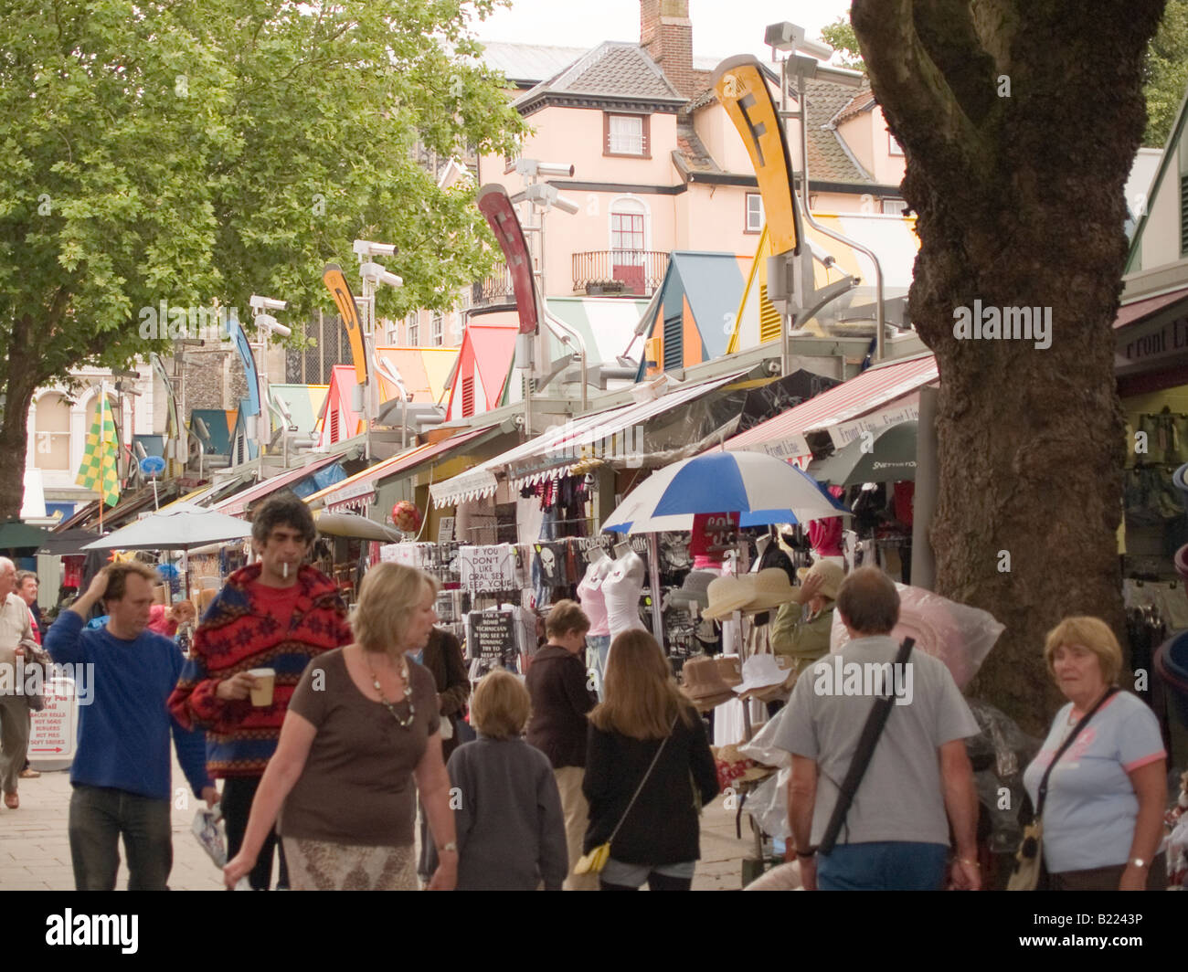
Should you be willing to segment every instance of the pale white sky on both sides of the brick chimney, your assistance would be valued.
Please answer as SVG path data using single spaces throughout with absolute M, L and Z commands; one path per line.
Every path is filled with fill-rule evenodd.
M 689 0 L 693 52 L 729 57 L 769 55 L 763 31 L 791 20 L 820 40 L 821 27 L 849 15 L 849 0 Z M 513 0 L 476 25 L 481 40 L 593 48 L 604 40 L 639 40 L 639 0 Z

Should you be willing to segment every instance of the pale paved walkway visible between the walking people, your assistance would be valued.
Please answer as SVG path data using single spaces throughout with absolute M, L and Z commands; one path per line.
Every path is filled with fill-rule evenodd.
M 175 789 L 178 781 L 184 777 L 175 763 Z M 197 801 L 188 788 L 185 795 L 188 806 L 179 808 L 176 802 L 173 806 L 170 886 L 182 891 L 217 891 L 222 888 L 221 873 L 190 833 Z M 735 839 L 734 812 L 725 809 L 719 797 L 702 815 L 695 891 L 738 890 L 741 884 L 741 859 L 750 853 L 751 844 Z M 74 890 L 67 838 L 69 804 L 69 772 L 62 770 L 43 772 L 39 780 L 20 781 L 20 809 L 0 806 L 0 890 Z M 744 837 L 745 827 L 744 822 Z M 128 872 L 121 861 L 116 888 L 122 890 L 127 883 Z

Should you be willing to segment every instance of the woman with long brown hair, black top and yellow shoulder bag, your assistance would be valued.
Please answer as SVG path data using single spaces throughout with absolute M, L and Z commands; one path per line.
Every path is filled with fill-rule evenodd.
M 589 714 L 583 850 L 611 844 L 604 891 L 688 891 L 701 857 L 701 807 L 718 771 L 696 709 L 646 631 L 611 644 L 604 700 Z

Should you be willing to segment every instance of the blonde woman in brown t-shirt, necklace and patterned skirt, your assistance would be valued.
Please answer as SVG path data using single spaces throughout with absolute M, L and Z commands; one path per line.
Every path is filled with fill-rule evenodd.
M 228 888 L 251 871 L 279 815 L 293 890 L 416 890 L 419 791 L 440 860 L 429 890 L 454 889 L 437 690 L 406 656 L 428 640 L 436 597 L 436 581 L 411 567 L 367 572 L 352 618 L 355 643 L 310 662 L 289 702 L 244 846 L 223 869 Z

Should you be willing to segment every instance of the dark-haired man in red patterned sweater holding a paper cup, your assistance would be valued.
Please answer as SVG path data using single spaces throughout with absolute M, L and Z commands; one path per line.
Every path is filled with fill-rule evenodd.
M 312 542 L 314 517 L 301 499 L 285 492 L 264 503 L 252 519 L 252 548 L 260 561 L 232 574 L 210 602 L 169 699 L 183 726 L 207 731 L 207 771 L 223 780 L 228 858 L 239 853 L 252 800 L 305 665 L 353 640 L 334 582 L 302 564 Z M 254 668 L 276 671 L 268 706 L 252 705 Z M 268 888 L 273 847 L 280 858 L 277 888 L 289 886 L 284 850 L 273 832 L 248 876 L 255 890 Z

